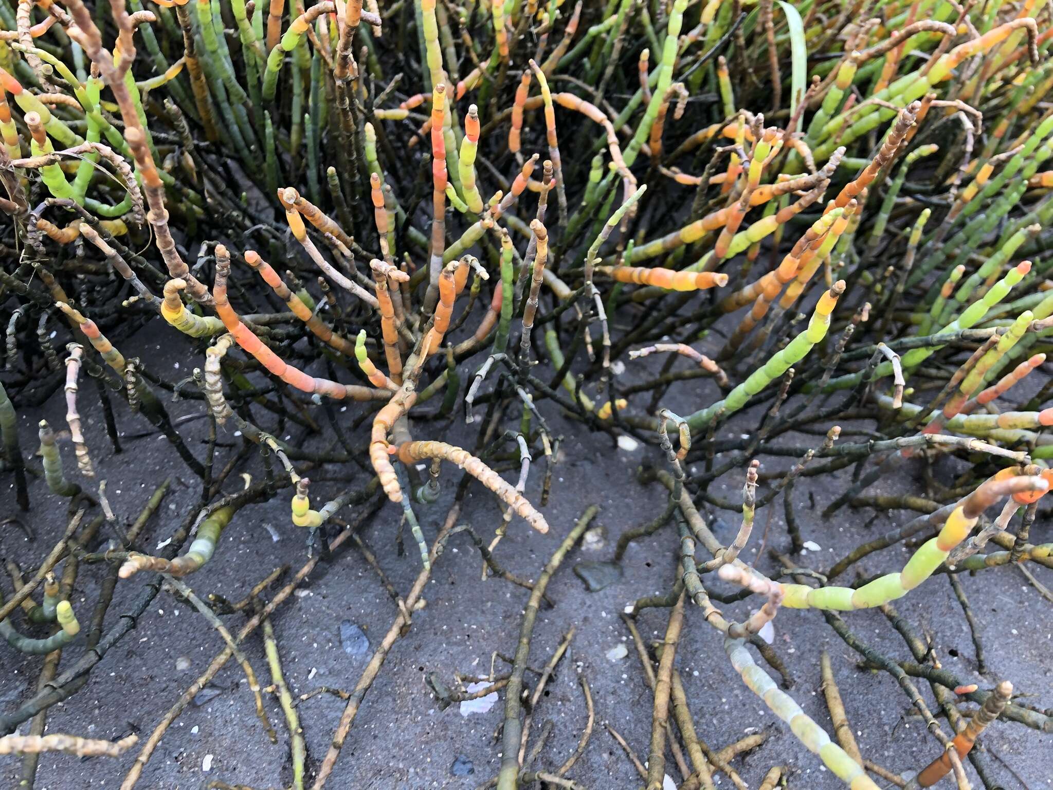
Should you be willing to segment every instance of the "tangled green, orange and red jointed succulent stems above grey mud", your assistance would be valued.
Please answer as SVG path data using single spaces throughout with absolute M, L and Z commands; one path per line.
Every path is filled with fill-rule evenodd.
M 5 474 L 13 515 L 16 505 L 32 513 L 57 502 L 71 514 L 27 580 L 9 567 L 0 635 L 46 658 L 39 691 L 0 716 L 0 733 L 31 720 L 32 731 L 0 738 L 0 753 L 25 755 L 32 787 L 41 751 L 118 757 L 131 748 L 134 737 L 44 736 L 47 710 L 90 682 L 165 590 L 225 648 L 139 747 L 122 788 L 232 657 L 276 737 L 239 647 L 260 627 L 293 785 L 319 790 L 443 546 L 466 532 L 490 573 L 530 590 L 511 669 L 492 678 L 505 702 L 491 784 L 580 787 L 568 774 L 592 733 L 583 676 L 578 750 L 537 768 L 542 736 L 524 759 L 535 618 L 596 514 L 575 525 L 545 516 L 562 494 L 552 482 L 560 415 L 652 446 L 641 486 L 669 489 L 668 507 L 624 532 L 615 557 L 636 538 L 675 533 L 667 593 L 625 617 L 653 688 L 647 768 L 636 763 L 649 790 L 662 787 L 667 753 L 681 788 L 712 790 L 718 771 L 744 787 L 729 765 L 735 752 L 699 738 L 675 668 L 689 604 L 701 627 L 724 635 L 742 683 L 852 790 L 876 788 L 875 776 L 905 783 L 860 755 L 829 658 L 833 737 L 755 663 L 748 646 L 789 687 L 758 634 L 776 616 L 808 615 L 780 609 L 819 610 L 902 687 L 938 742 L 910 787 L 948 774 L 970 787 L 967 755 L 994 787 L 972 750 L 985 727 L 1001 716 L 1050 732 L 1053 719 L 1012 700 L 1006 680 L 980 688 L 928 664 L 892 601 L 947 575 L 973 627 L 955 574 L 1006 567 L 1050 597 L 1029 566 L 1053 567 L 1053 545 L 1030 537 L 1053 480 L 1053 409 L 1044 409 L 1053 383 L 1035 386 L 1053 335 L 1051 14 L 1045 0 L 0 0 Z M 183 350 L 187 378 L 122 353 L 147 323 Z M 652 355 L 660 366 L 638 361 Z M 18 412 L 59 389 L 72 451 L 40 421 L 33 457 Z M 690 413 L 668 408 L 671 392 L 680 402 L 687 394 Z M 170 414 L 178 398 L 206 410 L 203 451 Z M 104 415 L 110 448 L 86 440 L 85 400 Z M 742 415 L 754 430 L 726 438 Z M 478 426 L 470 449 L 440 440 L 455 419 Z M 105 547 L 114 514 L 93 483 L 117 462 L 118 427 L 140 420 L 200 481 L 198 507 L 156 554 L 142 530 L 167 483 L 120 545 Z M 294 427 L 304 440 L 281 438 Z M 236 448 L 217 449 L 231 434 Z M 794 443 L 809 434 L 812 446 Z M 938 481 L 941 456 L 968 471 Z M 795 462 L 779 469 L 776 458 Z M 908 459 L 929 475 L 926 496 L 868 493 Z M 524 495 L 532 466 L 543 476 L 534 500 Z M 458 482 L 451 467 L 463 470 Z M 848 482 L 834 476 L 849 467 Z M 224 493 L 246 468 L 258 479 Z M 307 476 L 323 474 L 343 481 L 330 498 Z M 744 480 L 740 499 L 711 490 L 729 474 Z M 743 562 L 751 540 L 799 556 L 792 492 L 819 475 L 843 489 L 823 519 L 847 506 L 917 515 L 827 569 L 790 553 L 770 575 Z M 501 510 L 493 534 L 456 526 L 475 485 Z M 443 486 L 456 491 L 453 506 L 429 535 L 420 514 Z M 758 539 L 756 515 L 780 496 L 787 534 Z M 273 498 L 287 501 L 310 549 L 293 578 L 265 599 L 271 574 L 233 605 L 188 587 L 224 562 L 219 539 L 239 511 Z M 741 514 L 731 545 L 701 503 Z M 351 524 L 340 518 L 349 508 Z M 356 534 L 377 513 L 400 551 L 408 525 L 419 553 L 405 592 Z M 558 547 L 534 581 L 500 564 L 500 539 L 523 528 L 518 519 Z M 913 538 L 902 567 L 889 559 L 888 573 L 849 578 L 865 557 Z M 355 541 L 398 613 L 312 765 L 271 620 Z M 72 606 L 79 567 L 106 574 L 94 609 Z M 137 574 L 150 581 L 132 611 L 107 619 L 116 586 Z M 720 581 L 741 593 L 718 594 Z M 760 608 L 735 619 L 731 608 L 750 595 Z M 670 615 L 652 658 L 633 623 L 654 607 Z M 865 608 L 902 633 L 910 663 L 850 630 L 841 612 Z M 229 630 L 220 615 L 237 612 L 242 625 Z M 78 616 L 90 620 L 80 638 Z M 433 688 L 445 704 L 471 696 L 438 679 Z M 978 707 L 963 714 L 960 699 Z M 763 787 L 784 781 L 776 767 Z

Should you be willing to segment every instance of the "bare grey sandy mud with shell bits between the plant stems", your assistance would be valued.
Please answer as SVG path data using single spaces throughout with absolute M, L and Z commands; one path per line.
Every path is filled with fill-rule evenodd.
M 152 333 L 139 333 L 125 341 L 125 353 L 137 353 L 157 372 L 179 378 L 186 375 L 173 368 L 167 349 L 154 342 Z M 138 348 L 136 348 L 138 347 Z M 177 356 L 176 358 L 181 358 Z M 90 390 L 88 390 L 90 391 Z M 694 380 L 677 384 L 670 396 L 673 408 L 699 401 L 709 402 L 715 388 L 709 381 Z M 107 492 L 118 517 L 130 521 L 150 496 L 153 487 L 164 476 L 174 477 L 171 493 L 144 532 L 143 546 L 154 549 L 178 526 L 194 507 L 198 486 L 193 474 L 179 462 L 175 452 L 157 436 L 126 441 L 121 455 L 113 455 L 105 438 L 101 410 L 84 398 L 82 415 L 85 433 L 93 448 L 100 477 L 107 480 Z M 36 422 L 45 416 L 56 428 L 63 427 L 64 407 L 61 393 L 40 410 L 23 410 L 19 415 L 23 449 L 36 446 Z M 200 401 L 181 401 L 172 406 L 173 415 L 202 411 Z M 562 635 L 576 629 L 570 650 L 549 683 L 533 717 L 531 745 L 547 722 L 553 724 L 552 737 L 538 766 L 559 766 L 574 750 L 585 723 L 585 708 L 577 673 L 588 677 L 595 698 L 596 724 L 583 756 L 570 776 L 588 788 L 635 788 L 642 782 L 625 754 L 616 745 L 602 723 L 617 729 L 641 759 L 648 751 L 651 730 L 652 694 L 647 687 L 636 651 L 619 612 L 635 598 L 669 589 L 675 574 L 677 540 L 670 527 L 650 538 L 633 544 L 623 562 L 622 578 L 598 593 L 588 593 L 572 566 L 588 559 L 609 559 L 614 542 L 624 530 L 650 520 L 664 501 L 659 486 L 641 487 L 635 481 L 638 468 L 650 459 L 660 462 L 657 448 L 640 446 L 624 450 L 610 436 L 583 433 L 579 426 L 563 420 L 551 403 L 542 407 L 554 431 L 567 439 L 562 460 L 555 470 L 551 503 L 544 515 L 552 525 L 548 535 L 532 532 L 516 519 L 498 548 L 498 558 L 513 573 L 535 578 L 578 515 L 592 503 L 600 508 L 595 525 L 602 528 L 598 548 L 576 548 L 563 562 L 549 587 L 554 609 L 542 609 L 531 651 L 531 665 L 542 666 Z M 354 410 L 354 407 L 350 407 Z M 265 417 L 264 421 L 272 419 Z M 122 431 L 135 433 L 150 429 L 142 418 L 118 410 Z M 270 423 L 269 423 L 270 424 Z M 756 424 L 755 415 L 735 420 L 723 435 L 749 431 Z M 186 433 L 198 439 L 204 420 L 190 422 Z M 232 429 L 233 430 L 233 429 Z M 464 435 L 460 417 L 453 426 L 420 422 L 419 437 L 457 441 Z M 233 439 L 230 435 L 225 438 Z M 809 441 L 818 442 L 810 437 Z M 233 441 L 232 441 L 233 445 Z M 201 452 L 202 448 L 196 446 Z M 67 472 L 73 474 L 73 455 L 64 443 Z M 221 449 L 220 460 L 231 449 Z M 541 465 L 535 467 L 526 487 L 526 496 L 537 501 L 541 485 Z M 240 471 L 240 470 L 239 470 Z M 259 468 L 250 467 L 253 474 Z M 919 491 L 912 478 L 916 472 L 909 465 L 891 479 L 882 479 L 874 491 Z M 350 472 L 347 472 L 350 473 Z M 355 472 L 353 481 L 364 483 L 366 475 Z M 948 479 L 953 470 L 948 470 Z M 510 475 L 511 476 L 511 475 Z M 433 506 L 416 506 L 424 534 L 431 539 L 441 522 L 453 493 L 455 471 L 444 470 L 446 481 L 442 498 Z M 846 550 L 882 533 L 910 518 L 907 512 L 879 513 L 845 509 L 832 520 L 823 521 L 822 507 L 843 490 L 847 476 L 826 476 L 821 481 L 806 478 L 795 489 L 798 520 L 806 540 L 819 546 L 818 552 L 798 557 L 801 565 L 829 567 Z M 17 515 L 11 477 L 3 477 L 0 515 Z M 227 480 L 224 491 L 241 486 L 237 475 Z M 711 491 L 737 497 L 741 478 L 729 475 Z M 341 483 L 319 481 L 313 487 L 318 501 L 340 490 Z M 27 541 L 14 525 L 0 531 L 2 553 L 32 568 L 61 532 L 64 502 L 51 494 L 42 480 L 31 481 L 33 510 L 23 516 L 37 533 Z M 814 497 L 814 500 L 813 500 Z M 282 492 L 273 501 L 241 510 L 222 535 L 215 558 L 188 581 L 201 595 L 219 593 L 239 599 L 275 567 L 289 564 L 299 568 L 306 559 L 304 533 L 289 520 L 289 495 Z M 776 499 L 768 520 L 758 514 L 758 530 L 743 553 L 763 571 L 773 569 L 767 555 L 758 555 L 759 533 L 767 531 L 767 545 L 779 550 L 789 548 L 782 521 L 782 508 Z M 346 515 L 346 513 L 345 513 Z M 405 591 L 419 570 L 419 556 L 410 541 L 404 556 L 397 556 L 394 533 L 400 511 L 388 503 L 364 529 L 363 535 L 375 549 L 384 571 L 396 588 Z M 460 520 L 471 524 L 480 534 L 490 535 L 500 520 L 493 497 L 474 487 Z M 719 514 L 711 520 L 717 536 L 730 540 L 737 525 L 733 513 Z M 269 529 L 270 528 L 270 529 Z M 271 530 L 278 539 L 274 539 Z M 103 528 L 102 538 L 112 537 Z M 409 539 L 409 531 L 406 532 Z M 1032 530 L 1032 540 L 1050 540 L 1049 526 L 1040 519 Z M 595 546 L 595 544 L 590 544 Z M 894 547 L 872 555 L 861 564 L 866 573 L 898 569 L 908 550 Z M 1047 585 L 1053 576 L 1035 569 Z M 82 568 L 73 598 L 82 620 L 90 616 L 98 592 L 101 567 Z M 1053 621 L 1049 604 L 1042 600 L 1024 576 L 1011 569 L 986 571 L 961 578 L 970 596 L 980 635 L 987 649 L 989 673 L 980 676 L 974 659 L 973 643 L 946 577 L 929 580 L 922 589 L 900 601 L 899 610 L 918 631 L 931 634 L 942 665 L 960 677 L 990 687 L 1000 678 L 1013 680 L 1025 700 L 1044 709 L 1053 708 Z M 118 587 L 106 626 L 112 627 L 128 601 L 145 584 L 140 575 Z M 9 590 L 7 582 L 5 588 Z M 469 788 L 495 776 L 500 749 L 494 733 L 502 718 L 503 695 L 489 711 L 462 715 L 457 706 L 440 710 L 424 684 L 429 672 L 438 672 L 446 683 L 454 672 L 484 674 L 490 671 L 495 651 L 510 655 L 518 638 L 520 615 L 528 592 L 500 579 L 480 581 L 480 558 L 466 536 L 455 536 L 439 559 L 424 596 L 426 607 L 417 612 L 409 634 L 398 641 L 379 677 L 365 696 L 354 729 L 340 755 L 327 787 L 332 788 Z M 729 605 L 729 616 L 742 618 L 750 603 Z M 92 737 L 116 738 L 128 732 L 145 737 L 164 712 L 190 683 L 222 649 L 218 634 L 185 604 L 162 593 L 141 618 L 137 628 L 92 673 L 91 682 L 80 693 L 54 708 L 47 719 L 48 732 L 69 732 Z M 351 689 L 369 657 L 349 655 L 340 645 L 340 624 L 350 620 L 359 626 L 371 641 L 379 643 L 397 610 L 388 597 L 374 571 L 354 548 L 338 553 L 332 564 L 322 564 L 300 591 L 277 611 L 274 625 L 285 676 L 294 694 L 318 686 Z M 648 610 L 639 619 L 647 639 L 660 638 L 668 614 Z M 241 615 L 224 617 L 234 630 Z M 19 618 L 19 623 L 21 619 Z M 898 634 L 876 612 L 849 615 L 855 632 L 887 655 L 909 657 Z M 857 668 L 858 656 L 823 623 L 816 612 L 786 610 L 774 623 L 775 648 L 784 659 L 793 678 L 792 695 L 820 725 L 830 727 L 819 691 L 819 654 L 830 651 L 835 676 L 853 728 L 858 733 L 862 753 L 896 772 L 917 770 L 936 754 L 939 747 L 925 733 L 912 714 L 907 696 L 887 674 Z M 608 651 L 625 644 L 628 655 L 612 660 Z M 81 653 L 82 639 L 68 648 L 62 666 L 67 667 Z M 245 653 L 267 683 L 266 664 L 260 637 L 245 644 Z M 13 709 L 27 698 L 36 684 L 40 657 L 23 656 L 0 645 L 3 673 L 0 673 L 0 710 Z M 185 658 L 177 669 L 177 660 Z M 735 763 L 746 783 L 755 788 L 774 765 L 789 768 L 791 788 L 826 790 L 840 783 L 815 755 L 808 753 L 776 717 L 754 697 L 732 670 L 721 647 L 721 638 L 703 621 L 697 609 L 687 614 L 684 634 L 676 664 L 683 675 L 687 693 L 699 735 L 715 748 L 762 730 L 767 742 Z M 498 671 L 506 668 L 497 663 Z M 528 675 L 533 684 L 533 677 Z M 919 687 L 921 684 L 919 684 Z M 289 743 L 284 719 L 274 697 L 267 697 L 267 712 L 278 729 L 277 745 L 271 744 L 257 719 L 252 695 L 245 688 L 240 669 L 230 663 L 215 678 L 210 693 L 215 696 L 200 706 L 191 706 L 168 730 L 147 765 L 139 787 L 176 790 L 203 787 L 211 779 L 239 783 L 253 788 L 287 787 L 292 781 Z M 927 687 L 923 693 L 933 710 L 936 706 Z M 335 696 L 316 696 L 299 707 L 309 752 L 309 772 L 324 756 L 343 703 Z M 28 725 L 23 725 L 23 731 Z M 984 738 L 984 763 L 991 775 L 1005 788 L 1053 786 L 1049 756 L 1053 735 L 1042 735 L 1012 723 L 997 723 Z M 68 755 L 45 755 L 41 761 L 37 788 L 40 790 L 82 790 L 117 787 L 127 771 L 136 750 L 118 759 L 78 759 Z M 452 774 L 458 756 L 471 762 L 472 773 Z M 667 755 L 668 756 L 668 755 Z M 682 777 L 672 759 L 667 770 L 675 783 Z M 208 770 L 205 770 L 208 766 Z M 967 770 L 976 786 L 979 781 L 972 768 Z M 0 784 L 17 786 L 19 764 L 14 757 L 0 757 Z M 720 787 L 730 787 L 724 777 Z M 883 784 L 883 783 L 882 783 Z M 945 781 L 950 785 L 950 781 Z

